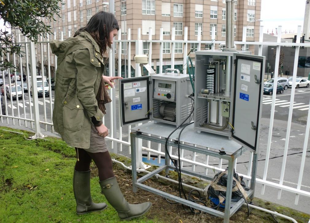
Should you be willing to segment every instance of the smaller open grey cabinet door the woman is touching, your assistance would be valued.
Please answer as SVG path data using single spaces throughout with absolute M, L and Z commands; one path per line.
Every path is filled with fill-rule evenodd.
M 150 120 L 150 87 L 150 76 L 119 79 L 121 126 Z

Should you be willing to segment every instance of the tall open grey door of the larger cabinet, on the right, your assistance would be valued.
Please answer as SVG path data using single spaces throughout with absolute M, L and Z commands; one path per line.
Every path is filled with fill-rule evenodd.
M 265 57 L 236 55 L 232 73 L 230 139 L 257 152 Z

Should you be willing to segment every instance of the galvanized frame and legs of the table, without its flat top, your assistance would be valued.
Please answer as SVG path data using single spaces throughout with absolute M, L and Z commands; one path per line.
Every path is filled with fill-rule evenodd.
M 194 131 L 194 130 L 193 130 Z M 130 138 L 131 138 L 131 167 L 132 167 L 132 187 L 133 187 L 133 192 L 137 192 L 138 188 L 141 188 L 143 190 L 149 191 L 151 193 L 154 193 L 156 195 L 160 195 L 162 197 L 165 197 L 167 199 L 170 200 L 174 200 L 180 204 L 184 204 L 186 206 L 201 210 L 203 212 L 207 212 L 209 214 L 215 215 L 217 217 L 222 217 L 224 218 L 224 223 L 229 223 L 229 218 L 242 206 L 242 204 L 244 203 L 243 199 L 240 199 L 238 202 L 236 202 L 232 208 L 231 207 L 231 197 L 232 197 L 232 182 L 233 182 L 233 169 L 234 169 L 234 164 L 236 162 L 237 157 L 241 156 L 242 152 L 244 152 L 246 150 L 246 148 L 241 147 L 240 149 L 238 149 L 237 151 L 235 151 L 234 153 L 232 153 L 231 155 L 228 154 L 219 154 L 219 152 L 215 152 L 212 150 L 207 150 L 207 149 L 202 149 L 202 148 L 197 148 L 195 146 L 191 146 L 191 145 L 186 145 L 186 144 L 180 144 L 180 148 L 189 150 L 189 151 L 193 151 L 193 152 L 197 152 L 197 153 L 201 153 L 201 154 L 205 154 L 205 155 L 209 155 L 212 157 L 218 157 L 220 159 L 224 159 L 228 161 L 228 181 L 227 181 L 227 191 L 226 191 L 226 200 L 225 200 L 225 212 L 221 212 L 212 208 L 208 208 L 205 207 L 203 205 L 200 204 L 196 204 L 194 202 L 188 201 L 186 199 L 168 194 L 166 192 L 163 191 L 159 191 L 157 189 L 154 189 L 152 187 L 146 186 L 144 184 L 142 184 L 144 181 L 146 181 L 147 179 L 155 176 L 156 174 L 159 174 L 162 170 L 165 170 L 166 172 L 169 172 L 169 169 L 175 169 L 174 165 L 169 165 L 169 157 L 165 156 L 165 166 L 162 166 L 156 170 L 154 170 L 153 172 L 146 174 L 145 176 L 137 179 L 137 155 L 139 156 L 139 154 L 137 154 L 137 148 L 136 148 L 136 139 L 145 139 L 145 140 L 150 140 L 156 143 L 160 143 L 160 144 L 165 144 L 166 139 L 165 138 L 157 138 L 154 136 L 148 136 L 146 134 L 141 134 L 141 132 L 131 132 L 130 133 Z M 225 142 L 223 142 L 225 143 Z M 169 146 L 174 146 L 175 144 L 172 141 L 168 141 L 168 145 Z M 253 157 L 253 168 L 252 168 L 252 180 L 251 180 L 251 185 L 250 187 L 246 187 L 246 193 L 248 194 L 248 196 L 250 197 L 250 199 L 253 199 L 254 197 L 254 188 L 255 188 L 255 176 L 256 176 L 256 163 L 257 163 L 257 155 L 254 154 Z M 212 180 L 213 177 L 208 177 L 206 175 L 203 174 L 198 174 L 195 173 L 191 170 L 185 170 L 182 169 L 182 173 L 184 174 L 190 174 L 190 175 L 194 175 L 200 178 L 204 178 L 207 180 Z

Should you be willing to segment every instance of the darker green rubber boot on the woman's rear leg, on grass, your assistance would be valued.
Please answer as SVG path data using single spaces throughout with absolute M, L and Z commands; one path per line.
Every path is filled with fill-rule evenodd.
M 107 208 L 106 203 L 96 204 L 91 200 L 91 171 L 79 172 L 74 170 L 73 192 L 77 202 L 77 214 L 101 211 Z

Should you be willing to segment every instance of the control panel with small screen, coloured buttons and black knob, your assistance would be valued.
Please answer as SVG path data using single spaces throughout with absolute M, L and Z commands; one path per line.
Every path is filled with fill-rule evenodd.
M 153 98 L 175 101 L 175 81 L 154 79 Z

